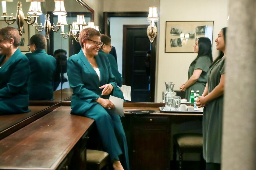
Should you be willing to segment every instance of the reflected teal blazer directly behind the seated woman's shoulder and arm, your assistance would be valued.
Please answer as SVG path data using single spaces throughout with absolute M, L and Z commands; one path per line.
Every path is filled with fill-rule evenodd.
M 116 84 L 119 87 L 122 87 L 123 77 L 122 77 L 122 74 L 120 74 L 119 71 L 118 71 L 118 67 L 117 67 L 115 57 L 112 54 L 107 54 L 102 50 L 99 50 L 99 53 L 104 53 L 108 57 L 108 61 L 110 63 L 112 74 L 116 77 Z

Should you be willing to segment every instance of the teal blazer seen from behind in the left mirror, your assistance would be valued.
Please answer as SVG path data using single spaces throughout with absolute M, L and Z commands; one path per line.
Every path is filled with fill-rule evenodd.
M 29 100 L 53 100 L 53 78 L 56 72 L 56 59 L 40 49 L 25 55 L 29 60 L 30 66 Z

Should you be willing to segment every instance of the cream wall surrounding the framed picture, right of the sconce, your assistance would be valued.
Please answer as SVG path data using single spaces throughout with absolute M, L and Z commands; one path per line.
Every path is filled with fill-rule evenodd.
M 206 3 L 207 2 L 207 3 Z M 159 43 L 156 73 L 155 101 L 162 101 L 164 82 L 175 83 L 174 90 L 187 81 L 187 72 L 190 63 L 196 57 L 194 53 L 165 53 L 165 22 L 166 21 L 214 21 L 213 39 L 217 38 L 219 31 L 226 27 L 228 16 L 228 0 L 215 1 L 188 1 L 188 0 L 161 0 L 159 8 Z M 218 55 L 213 44 L 213 56 Z

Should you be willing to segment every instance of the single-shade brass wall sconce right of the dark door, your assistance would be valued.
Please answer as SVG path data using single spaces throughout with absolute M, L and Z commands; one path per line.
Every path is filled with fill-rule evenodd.
M 147 21 L 151 22 L 147 29 L 147 35 L 148 35 L 149 41 L 152 43 L 157 35 L 157 28 L 154 21 L 159 21 L 156 6 L 149 7 Z

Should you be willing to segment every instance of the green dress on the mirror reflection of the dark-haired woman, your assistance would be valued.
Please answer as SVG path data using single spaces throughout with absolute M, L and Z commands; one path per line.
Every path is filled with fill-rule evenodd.
M 194 70 L 201 69 L 202 73 L 199 77 L 199 79 L 186 90 L 186 98 L 187 101 L 189 101 L 190 98 L 190 92 L 191 90 L 194 90 L 196 93 L 196 90 L 199 90 L 199 96 L 202 96 L 204 92 L 204 88 L 207 83 L 207 72 L 209 70 L 209 66 L 211 65 L 211 60 L 208 56 L 201 56 L 197 59 L 195 63 L 193 63 L 191 66 L 189 66 L 188 69 L 188 79 L 193 75 Z

